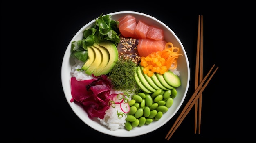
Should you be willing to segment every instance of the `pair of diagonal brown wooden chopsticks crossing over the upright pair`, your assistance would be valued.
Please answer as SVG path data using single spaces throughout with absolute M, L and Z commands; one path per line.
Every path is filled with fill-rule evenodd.
M 198 100 L 199 95 L 201 95 L 201 93 L 204 91 L 205 87 L 207 86 L 207 84 L 209 83 L 209 81 L 211 80 L 211 78 L 213 77 L 213 75 L 215 74 L 215 72 L 217 71 L 218 67 L 216 67 L 216 69 L 214 70 L 214 72 L 211 74 L 211 76 L 209 77 L 209 79 L 207 80 L 207 82 L 204 84 L 205 80 L 208 78 L 209 74 L 211 73 L 211 71 L 213 70 L 215 65 L 212 66 L 212 68 L 210 69 L 210 71 L 207 73 L 207 75 L 204 77 L 204 79 L 202 80 L 202 82 L 200 83 L 200 85 L 198 85 L 198 88 L 195 90 L 195 92 L 193 93 L 193 95 L 191 96 L 191 98 L 189 99 L 189 102 L 186 104 L 186 106 L 184 107 L 184 109 L 182 110 L 181 114 L 179 115 L 179 117 L 177 118 L 177 120 L 175 121 L 175 123 L 173 124 L 172 128 L 169 130 L 168 134 L 166 135 L 165 139 L 169 140 L 171 138 L 171 136 L 173 135 L 173 133 L 177 130 L 177 128 L 180 126 L 181 122 L 183 121 L 183 119 L 186 117 L 186 115 L 189 113 L 189 111 L 191 110 L 191 108 L 194 106 L 195 102 Z M 202 86 L 204 84 L 204 86 Z M 199 91 L 199 93 L 198 93 Z

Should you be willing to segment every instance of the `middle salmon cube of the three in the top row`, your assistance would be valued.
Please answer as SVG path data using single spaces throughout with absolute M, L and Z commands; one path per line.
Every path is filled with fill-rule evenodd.
M 149 25 L 139 20 L 134 30 L 135 39 L 146 39 Z

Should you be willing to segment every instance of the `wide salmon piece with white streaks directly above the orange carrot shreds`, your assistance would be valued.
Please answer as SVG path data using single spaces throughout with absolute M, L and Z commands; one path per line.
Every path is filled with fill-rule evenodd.
M 139 56 L 148 56 L 152 52 L 162 51 L 165 49 L 166 41 L 153 39 L 139 39 L 138 52 Z

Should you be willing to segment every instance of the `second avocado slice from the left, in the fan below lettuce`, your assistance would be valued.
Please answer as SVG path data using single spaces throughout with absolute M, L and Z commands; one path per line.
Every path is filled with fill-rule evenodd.
M 95 59 L 94 61 L 92 62 L 92 64 L 88 67 L 88 69 L 85 71 L 86 74 L 89 74 L 91 75 L 95 69 L 97 69 L 99 67 L 99 65 L 101 65 L 101 62 L 102 62 L 102 53 L 101 53 L 101 50 L 99 50 L 99 48 L 97 47 L 88 47 L 89 49 L 92 48 L 94 50 L 94 54 L 95 54 Z M 89 55 L 89 52 L 88 52 L 88 56 Z

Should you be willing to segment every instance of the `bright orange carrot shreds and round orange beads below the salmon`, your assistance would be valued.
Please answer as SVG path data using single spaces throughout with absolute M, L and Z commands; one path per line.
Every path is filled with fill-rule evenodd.
M 141 57 L 140 65 L 144 67 L 144 74 L 153 76 L 153 73 L 164 74 L 169 69 L 176 69 L 178 66 L 177 58 L 180 48 L 174 47 L 173 43 L 168 42 L 162 51 L 152 52 L 146 57 Z

